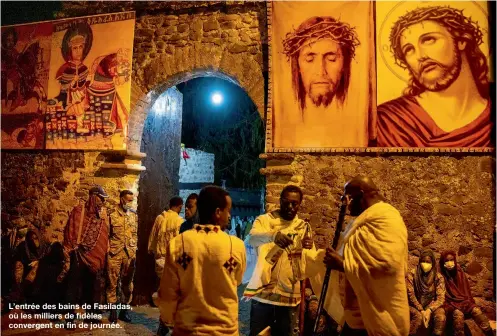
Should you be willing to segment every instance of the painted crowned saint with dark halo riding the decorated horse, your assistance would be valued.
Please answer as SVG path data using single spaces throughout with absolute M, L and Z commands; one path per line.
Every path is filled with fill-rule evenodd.
M 89 25 L 79 23 L 69 28 L 62 42 L 62 55 L 66 60 L 56 74 L 60 93 L 56 97 L 68 116 L 75 116 L 77 132 L 87 133 L 83 120 L 88 109 L 87 87 L 88 67 L 83 64 L 90 52 L 93 35 Z

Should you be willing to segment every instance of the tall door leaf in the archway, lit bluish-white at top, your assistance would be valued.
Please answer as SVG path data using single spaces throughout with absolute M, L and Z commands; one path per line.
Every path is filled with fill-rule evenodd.
M 154 260 L 148 254 L 148 238 L 155 218 L 178 195 L 178 153 L 181 150 L 181 113 L 183 95 L 175 87 L 165 91 L 148 111 L 140 151 L 147 156 L 142 161 L 146 171 L 139 181 L 138 195 L 138 253 L 134 300 L 148 303 L 154 286 Z

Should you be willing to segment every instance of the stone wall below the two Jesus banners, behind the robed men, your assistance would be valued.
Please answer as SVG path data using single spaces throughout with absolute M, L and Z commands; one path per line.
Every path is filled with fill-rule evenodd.
M 300 213 L 324 247 L 334 235 L 343 185 L 368 175 L 402 214 L 409 232 L 410 264 L 420 250 L 453 249 L 478 303 L 495 319 L 495 160 L 492 156 L 263 154 L 267 209 L 279 204 L 287 183 L 302 187 Z

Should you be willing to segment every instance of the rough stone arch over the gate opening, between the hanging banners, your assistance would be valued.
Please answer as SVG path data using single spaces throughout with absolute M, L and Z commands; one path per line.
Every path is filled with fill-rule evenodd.
M 264 119 L 265 6 L 235 6 L 229 10 L 218 6 L 169 13 L 157 11 L 136 18 L 128 155 L 140 152 L 147 116 L 160 95 L 195 77 L 214 76 L 237 84 Z M 174 146 L 179 145 L 176 142 Z M 140 267 L 144 261 L 147 264 L 143 249 L 146 231 L 151 229 L 148 226 L 146 223 L 139 228 Z M 136 280 L 135 302 L 145 303 L 147 284 Z

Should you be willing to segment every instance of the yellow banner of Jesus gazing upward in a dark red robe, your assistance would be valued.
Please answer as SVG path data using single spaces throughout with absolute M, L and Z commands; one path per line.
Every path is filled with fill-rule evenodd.
M 491 147 L 484 1 L 376 2 L 377 145 Z

